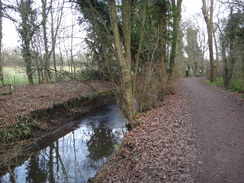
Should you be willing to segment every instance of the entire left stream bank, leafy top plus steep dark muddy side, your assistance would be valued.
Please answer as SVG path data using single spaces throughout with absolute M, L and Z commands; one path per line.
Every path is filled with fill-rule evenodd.
M 78 81 L 15 85 L 14 90 L 0 86 L 0 174 L 22 162 L 24 154 L 38 149 L 42 138 L 52 135 L 55 129 L 61 131 L 73 119 L 114 102 L 112 83 L 89 84 L 103 94 L 97 95 Z

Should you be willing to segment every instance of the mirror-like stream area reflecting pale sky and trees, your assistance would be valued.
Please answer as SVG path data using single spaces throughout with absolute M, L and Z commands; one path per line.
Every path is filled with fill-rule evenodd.
M 106 162 L 117 143 L 118 134 L 104 125 L 107 120 L 90 123 L 58 139 L 26 162 L 26 182 L 86 182 Z M 19 175 L 21 175 L 19 174 Z M 17 175 L 18 176 L 18 175 Z

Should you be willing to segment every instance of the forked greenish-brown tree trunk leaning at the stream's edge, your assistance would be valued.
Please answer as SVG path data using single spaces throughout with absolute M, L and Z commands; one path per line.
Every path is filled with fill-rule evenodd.
M 122 18 L 123 21 L 129 20 L 129 14 L 125 12 L 128 11 L 128 3 L 126 1 L 122 1 L 123 4 L 123 13 Z M 134 118 L 134 98 L 133 98 L 133 88 L 132 88 L 132 79 L 131 79 L 131 56 L 129 56 L 129 49 L 130 49 L 130 25 L 124 24 L 123 25 L 123 33 L 125 38 L 125 56 L 123 54 L 123 48 L 120 40 L 120 33 L 119 33 L 119 27 L 118 27 L 118 18 L 117 18 L 117 12 L 116 12 L 116 4 L 115 0 L 108 0 L 108 8 L 109 8 L 109 15 L 110 15 L 110 21 L 112 24 L 113 29 L 113 37 L 114 37 L 114 43 L 116 47 L 116 53 L 117 58 L 120 65 L 121 70 L 121 89 L 122 89 L 122 95 L 124 99 L 124 111 L 126 116 L 128 117 L 130 121 L 130 125 L 132 127 L 135 126 L 135 123 L 133 121 Z M 128 53 L 129 51 L 129 53 Z

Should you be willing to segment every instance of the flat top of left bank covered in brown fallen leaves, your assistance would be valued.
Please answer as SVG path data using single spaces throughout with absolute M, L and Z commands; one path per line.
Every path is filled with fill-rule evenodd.
M 113 88 L 113 84 L 102 81 L 91 81 L 90 84 L 99 91 Z M 24 116 L 30 112 L 52 108 L 68 100 L 86 96 L 94 91 L 77 81 L 49 83 L 41 85 L 15 85 L 12 91 L 9 86 L 0 87 L 0 128 L 12 126 L 17 116 Z

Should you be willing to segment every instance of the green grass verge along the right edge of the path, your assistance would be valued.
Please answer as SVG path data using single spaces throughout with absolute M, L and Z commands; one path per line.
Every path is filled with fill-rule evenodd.
M 207 80 L 206 83 L 212 86 L 224 87 L 224 79 L 222 77 L 215 78 L 213 82 Z M 239 78 L 232 79 L 229 85 L 229 90 L 244 93 L 244 80 Z

